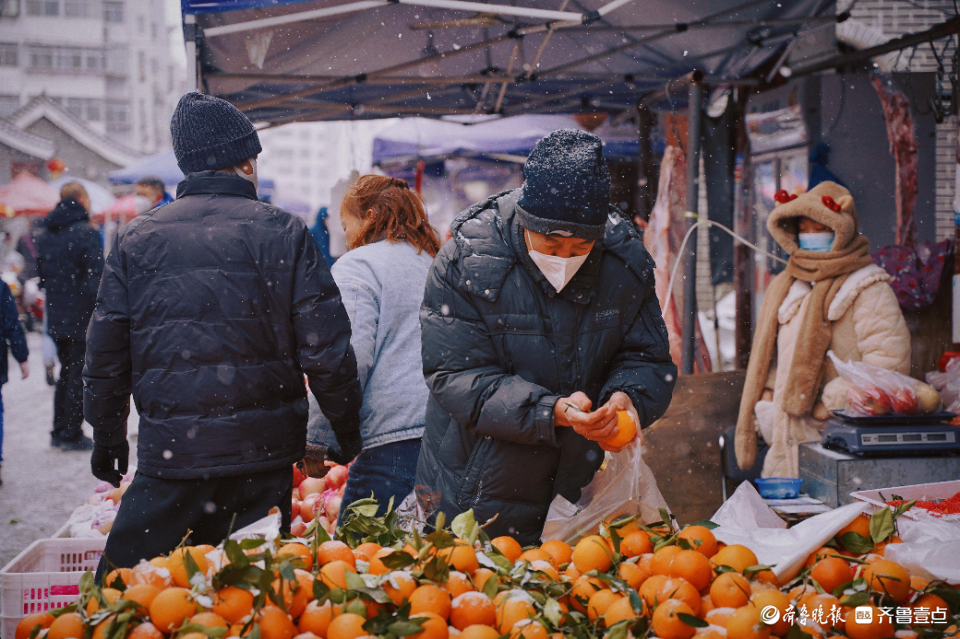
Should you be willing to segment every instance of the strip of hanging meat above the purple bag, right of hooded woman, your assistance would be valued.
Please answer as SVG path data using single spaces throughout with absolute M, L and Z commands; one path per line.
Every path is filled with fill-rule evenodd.
M 873 86 L 883 104 L 887 120 L 890 155 L 897 165 L 897 236 L 900 246 L 917 245 L 917 221 L 913 207 L 917 203 L 917 136 L 914 132 L 910 100 L 893 80 L 874 76 Z

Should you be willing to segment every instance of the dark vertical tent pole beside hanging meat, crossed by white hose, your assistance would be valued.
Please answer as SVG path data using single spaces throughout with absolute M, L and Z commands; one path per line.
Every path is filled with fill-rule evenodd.
M 687 116 L 687 227 L 697 223 L 700 204 L 700 116 L 703 87 L 690 83 Z M 680 372 L 693 374 L 697 326 L 697 238 L 683 256 L 683 355 Z

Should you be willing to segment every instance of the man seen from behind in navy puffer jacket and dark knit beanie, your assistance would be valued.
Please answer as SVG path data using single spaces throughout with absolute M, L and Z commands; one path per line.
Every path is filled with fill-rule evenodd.
M 100 479 L 117 485 L 126 471 L 131 391 L 140 412 L 138 473 L 104 549 L 120 567 L 173 550 L 188 530 L 190 543 L 215 545 L 234 516 L 239 528 L 273 506 L 289 529 L 304 374 L 340 444 L 335 461 L 362 446 L 349 318 L 306 224 L 257 200 L 257 132 L 199 93 L 181 98 L 171 132 L 186 179 L 174 202 L 120 231 L 87 333 Z

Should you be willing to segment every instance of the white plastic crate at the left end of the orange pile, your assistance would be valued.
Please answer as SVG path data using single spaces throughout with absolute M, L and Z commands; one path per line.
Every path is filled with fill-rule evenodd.
M 40 539 L 0 570 L 0 637 L 13 639 L 24 615 L 76 601 L 80 577 L 96 572 L 106 541 Z

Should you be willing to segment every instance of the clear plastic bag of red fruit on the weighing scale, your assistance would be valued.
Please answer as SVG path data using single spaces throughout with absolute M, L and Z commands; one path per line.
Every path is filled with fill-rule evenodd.
M 918 415 L 940 408 L 940 395 L 928 384 L 864 362 L 844 362 L 833 351 L 827 355 L 851 386 L 847 391 L 848 415 Z

